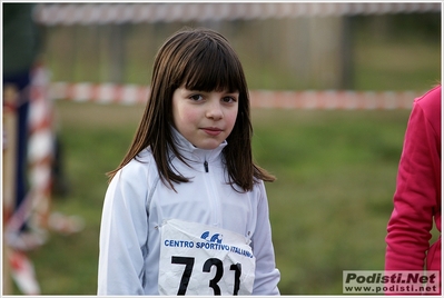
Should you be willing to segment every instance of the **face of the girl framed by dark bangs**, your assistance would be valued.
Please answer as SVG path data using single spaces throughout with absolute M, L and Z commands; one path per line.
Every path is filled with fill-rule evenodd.
M 172 95 L 175 128 L 197 148 L 215 149 L 235 126 L 238 100 L 238 92 L 204 92 L 181 86 Z

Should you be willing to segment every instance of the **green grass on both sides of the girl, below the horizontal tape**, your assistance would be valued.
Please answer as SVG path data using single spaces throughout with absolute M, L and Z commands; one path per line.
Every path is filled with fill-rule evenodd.
M 30 252 L 45 295 L 95 295 L 106 171 L 127 150 L 141 106 L 58 101 L 70 182 L 52 209 L 83 231 Z M 267 183 L 284 295 L 342 294 L 343 270 L 381 270 L 408 110 L 253 110 L 254 155 Z

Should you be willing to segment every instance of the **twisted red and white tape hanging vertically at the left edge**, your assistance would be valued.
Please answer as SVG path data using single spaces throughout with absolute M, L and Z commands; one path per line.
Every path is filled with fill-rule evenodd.
M 28 163 L 29 192 L 20 207 L 8 215 L 3 228 L 8 270 L 24 295 L 39 295 L 40 286 L 26 250 L 41 246 L 47 236 L 43 229 L 50 210 L 52 141 L 52 107 L 48 97 L 48 71 L 42 66 L 33 68 L 29 88 Z M 28 90 L 27 90 L 28 91 Z M 14 110 L 17 111 L 17 110 Z M 20 232 L 24 222 L 31 232 Z M 9 249 L 11 248 L 11 249 Z M 4 260 L 4 259 L 3 259 Z

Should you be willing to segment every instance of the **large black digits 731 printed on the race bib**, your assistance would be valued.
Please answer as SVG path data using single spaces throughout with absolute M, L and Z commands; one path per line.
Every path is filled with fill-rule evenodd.
M 187 292 L 189 279 L 191 278 L 195 258 L 172 256 L 171 264 L 185 265 L 185 269 L 180 278 L 179 289 L 177 291 L 177 295 L 185 295 Z M 220 295 L 218 282 L 224 276 L 224 264 L 218 258 L 209 258 L 204 262 L 201 270 L 203 272 L 210 272 L 211 267 L 216 268 L 216 274 L 215 277 L 208 281 L 208 286 L 213 288 L 215 295 Z M 240 287 L 241 265 L 239 262 L 230 265 L 229 269 L 235 271 L 233 295 L 237 296 Z

